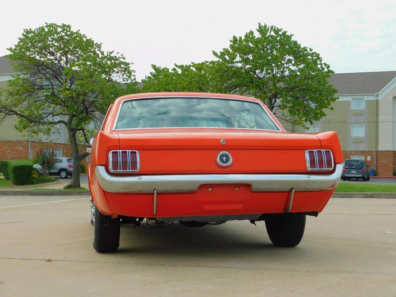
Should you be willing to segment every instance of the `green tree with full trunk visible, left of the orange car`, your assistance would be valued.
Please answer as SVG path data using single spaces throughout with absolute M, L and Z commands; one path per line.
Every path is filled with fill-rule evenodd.
M 37 135 L 50 135 L 64 125 L 74 158 L 71 187 L 79 188 L 80 161 L 88 155 L 80 145 L 88 144 L 95 132 L 91 124 L 99 124 L 110 103 L 125 93 L 121 82 L 130 82 L 129 89 L 135 86 L 131 63 L 65 24 L 25 29 L 8 51 L 21 74 L 2 90 L 0 122 L 17 116 L 17 130 Z

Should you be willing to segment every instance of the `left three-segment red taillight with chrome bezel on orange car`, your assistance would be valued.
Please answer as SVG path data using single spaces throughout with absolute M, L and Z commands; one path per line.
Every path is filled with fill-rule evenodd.
M 110 172 L 139 171 L 139 152 L 137 150 L 111 150 L 109 170 Z

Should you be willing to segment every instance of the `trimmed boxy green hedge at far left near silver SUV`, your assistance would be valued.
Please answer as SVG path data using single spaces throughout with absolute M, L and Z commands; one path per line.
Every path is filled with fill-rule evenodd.
M 15 185 L 32 183 L 33 162 L 29 160 L 7 160 L 2 162 L 2 172 Z

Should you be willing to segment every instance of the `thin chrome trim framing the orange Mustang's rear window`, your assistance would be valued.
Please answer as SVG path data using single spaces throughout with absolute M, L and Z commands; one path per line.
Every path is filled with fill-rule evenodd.
M 162 98 L 202 98 L 202 99 L 225 99 L 225 100 L 235 100 L 235 101 L 245 101 L 245 102 L 250 102 L 250 103 L 255 103 L 261 106 L 261 108 L 265 111 L 265 113 L 268 115 L 270 120 L 274 123 L 274 125 L 279 129 L 279 130 L 272 130 L 272 129 L 247 129 L 247 128 L 228 128 L 228 127 L 150 127 L 150 128 L 127 128 L 127 129 L 116 129 L 116 125 L 118 122 L 118 116 L 120 115 L 122 105 L 127 102 L 127 101 L 132 101 L 132 100 L 145 100 L 145 99 L 162 99 Z M 229 97 L 212 97 L 212 96 L 188 96 L 188 95 L 183 95 L 183 96 L 153 96 L 153 97 L 137 97 L 137 98 L 129 98 L 129 99 L 124 99 L 120 103 L 120 107 L 118 107 L 117 110 L 117 116 L 116 119 L 114 120 L 113 124 L 113 129 L 112 131 L 120 131 L 120 130 L 142 130 L 142 129 L 238 129 L 238 130 L 260 130 L 260 131 L 277 131 L 277 132 L 283 132 L 283 130 L 280 128 L 280 126 L 274 121 L 272 116 L 269 114 L 268 110 L 265 109 L 263 104 L 249 100 L 249 99 L 240 99 L 240 98 L 229 98 Z

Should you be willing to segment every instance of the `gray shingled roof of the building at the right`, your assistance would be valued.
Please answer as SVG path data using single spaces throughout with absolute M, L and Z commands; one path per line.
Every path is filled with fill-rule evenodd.
M 378 93 L 396 77 L 396 71 L 334 73 L 328 79 L 337 94 Z

